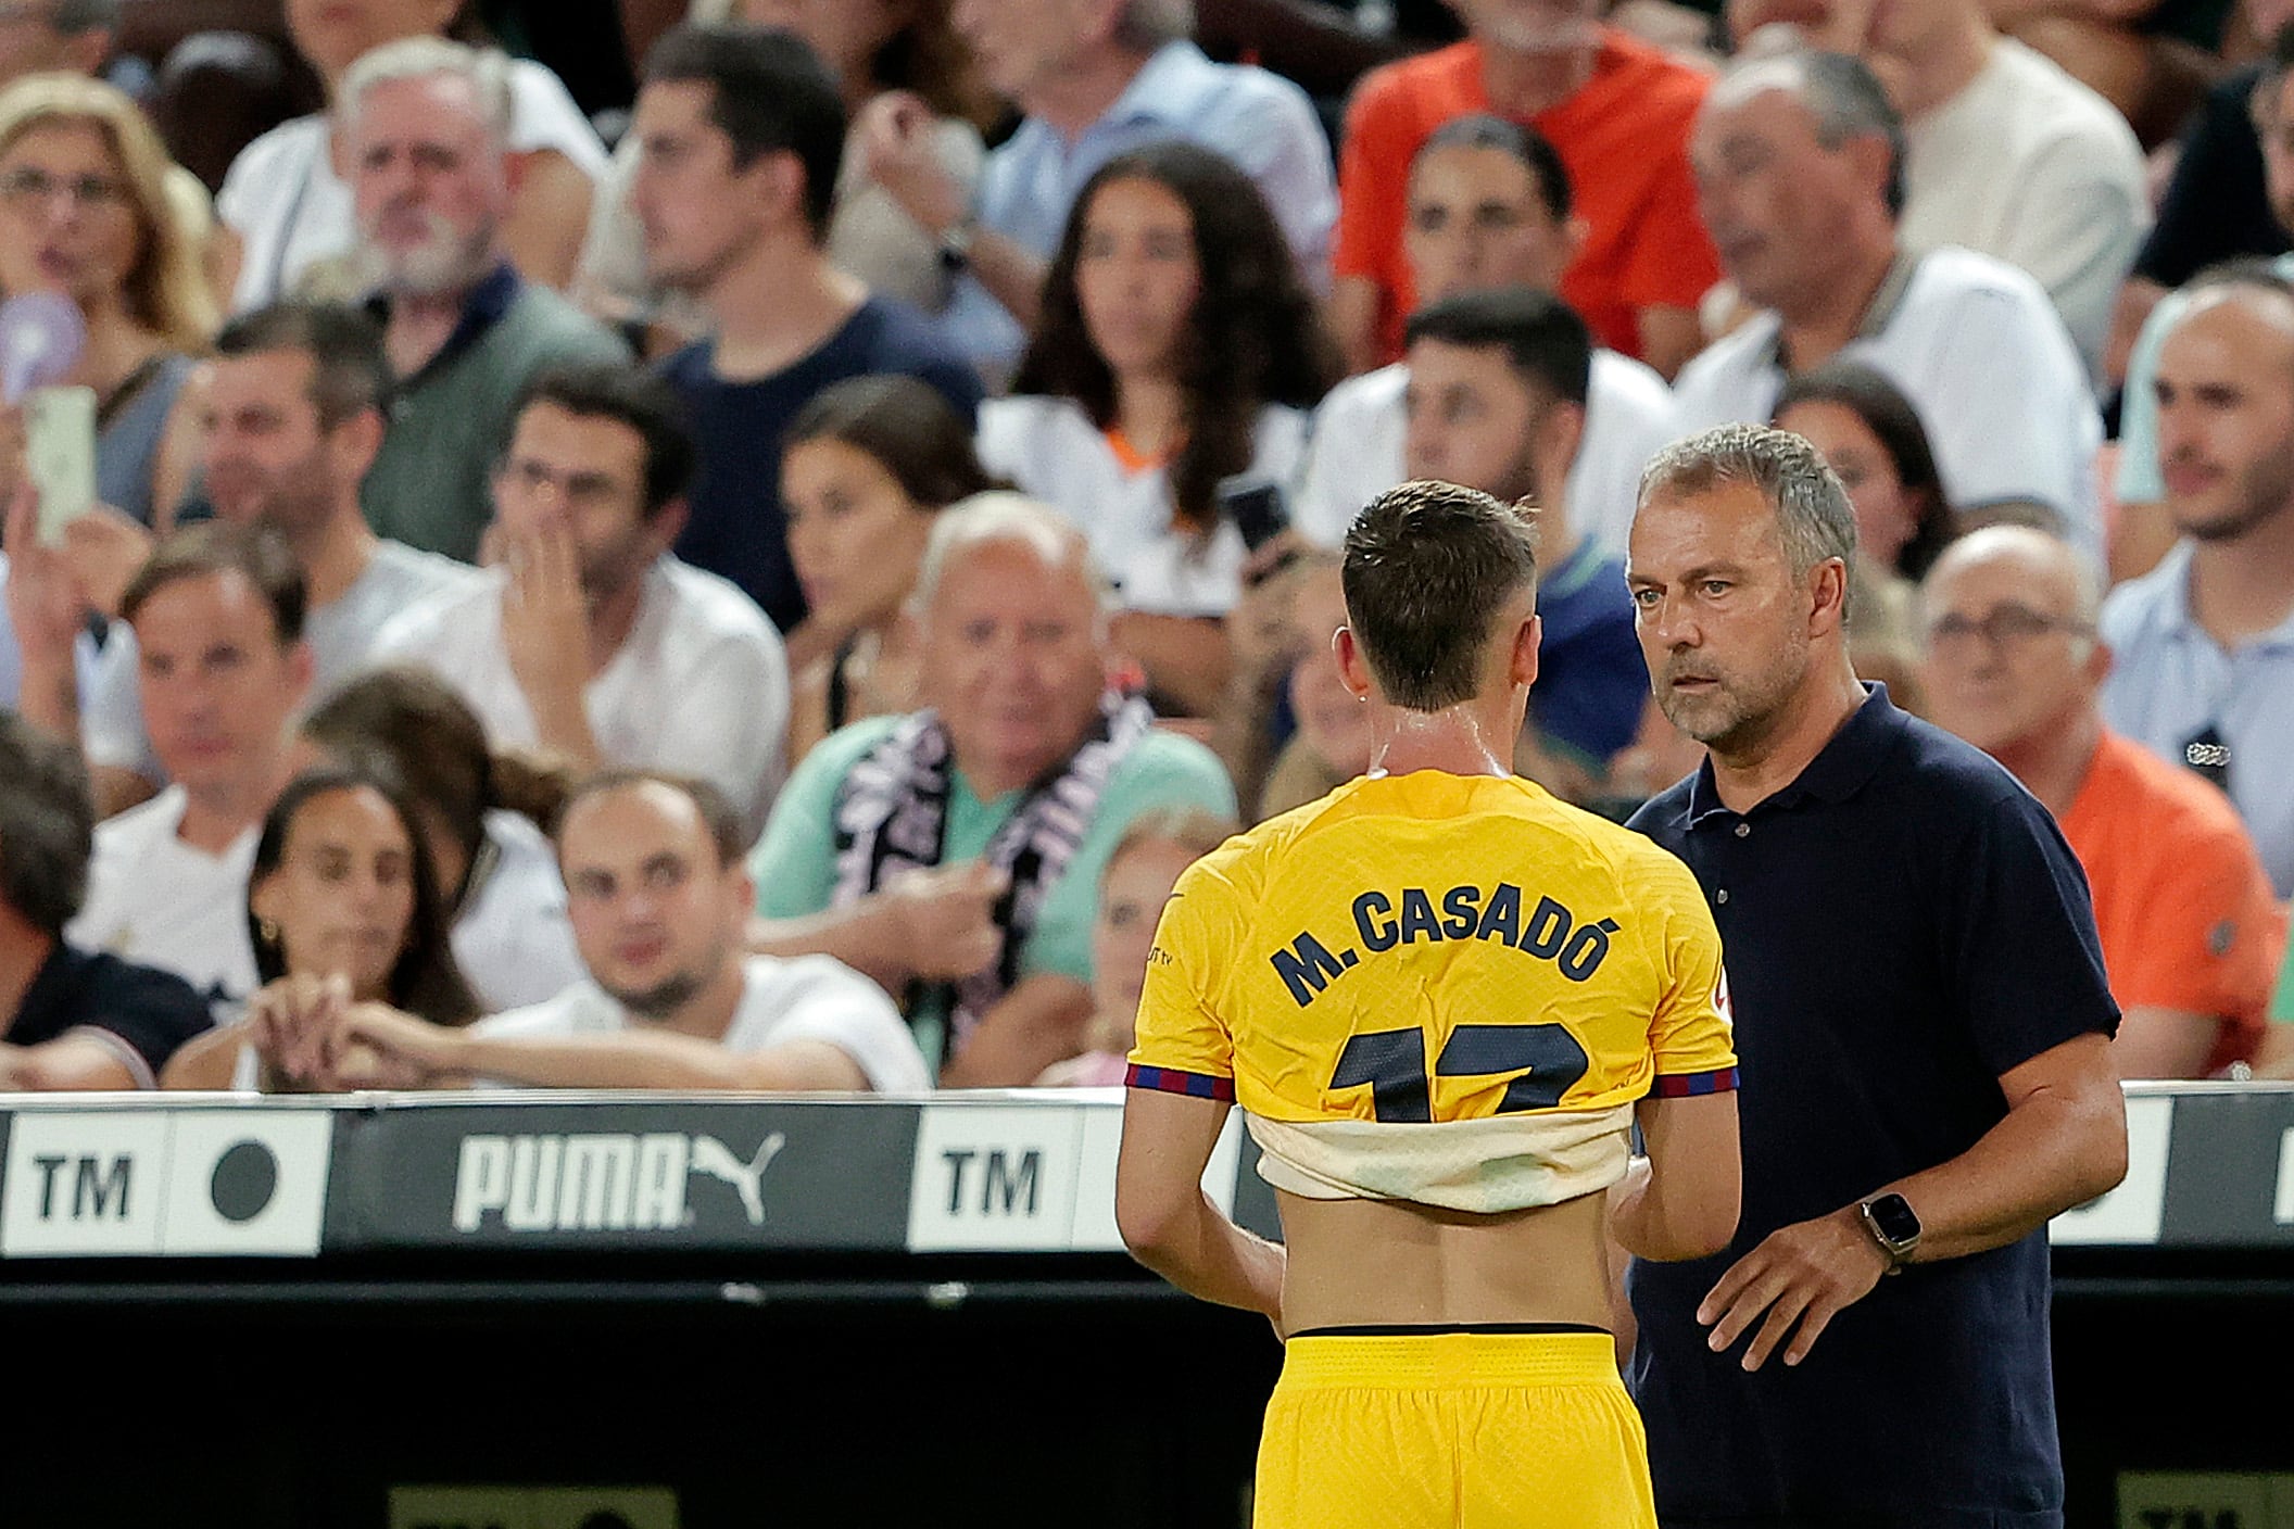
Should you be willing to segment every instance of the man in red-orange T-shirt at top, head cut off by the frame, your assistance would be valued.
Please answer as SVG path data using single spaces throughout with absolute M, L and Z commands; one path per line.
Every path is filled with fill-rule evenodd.
M 1356 371 L 1402 355 L 1418 305 L 1402 257 L 1418 147 L 1493 112 L 1560 149 L 1585 245 L 1560 293 L 1613 351 L 1665 376 L 1702 348 L 1695 305 L 1720 280 L 1688 181 L 1707 76 L 1594 21 L 1592 0 L 1448 0 L 1468 39 L 1376 69 L 1347 110 L 1337 167 L 1333 321 Z

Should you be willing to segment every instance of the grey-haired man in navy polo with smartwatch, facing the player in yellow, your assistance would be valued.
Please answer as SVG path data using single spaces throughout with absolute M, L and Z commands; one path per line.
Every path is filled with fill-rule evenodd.
M 1626 1281 L 1656 1511 L 2060 1527 L 2046 1222 L 2127 1171 L 2120 1013 L 2046 809 L 1856 679 L 1854 557 L 1798 436 L 1643 477 L 1640 646 L 1709 756 L 1633 828 L 1711 901 L 1743 1059 L 1734 1240 Z

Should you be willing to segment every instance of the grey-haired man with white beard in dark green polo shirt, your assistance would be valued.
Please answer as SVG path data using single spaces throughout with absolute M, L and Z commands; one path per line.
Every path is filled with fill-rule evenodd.
M 431 37 L 376 48 L 337 112 L 358 199 L 358 257 L 397 374 L 367 520 L 470 562 L 486 475 L 525 385 L 553 367 L 629 360 L 622 342 L 505 257 L 512 211 L 509 60 Z

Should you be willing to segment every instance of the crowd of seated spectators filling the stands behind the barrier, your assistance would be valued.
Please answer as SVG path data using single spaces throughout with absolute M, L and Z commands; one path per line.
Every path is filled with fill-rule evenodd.
M 172 9 L 0 16 L 7 1087 L 1122 1082 L 1370 763 L 1381 491 L 1535 516 L 1521 775 L 1700 768 L 1626 564 L 1727 422 L 2120 1073 L 2294 1075 L 2283 0 Z

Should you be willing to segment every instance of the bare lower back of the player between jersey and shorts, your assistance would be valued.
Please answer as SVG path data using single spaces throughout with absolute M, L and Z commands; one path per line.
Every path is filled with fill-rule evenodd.
M 1282 1330 L 1450 1323 L 1608 1327 L 1606 1197 L 1470 1215 L 1278 1194 Z

